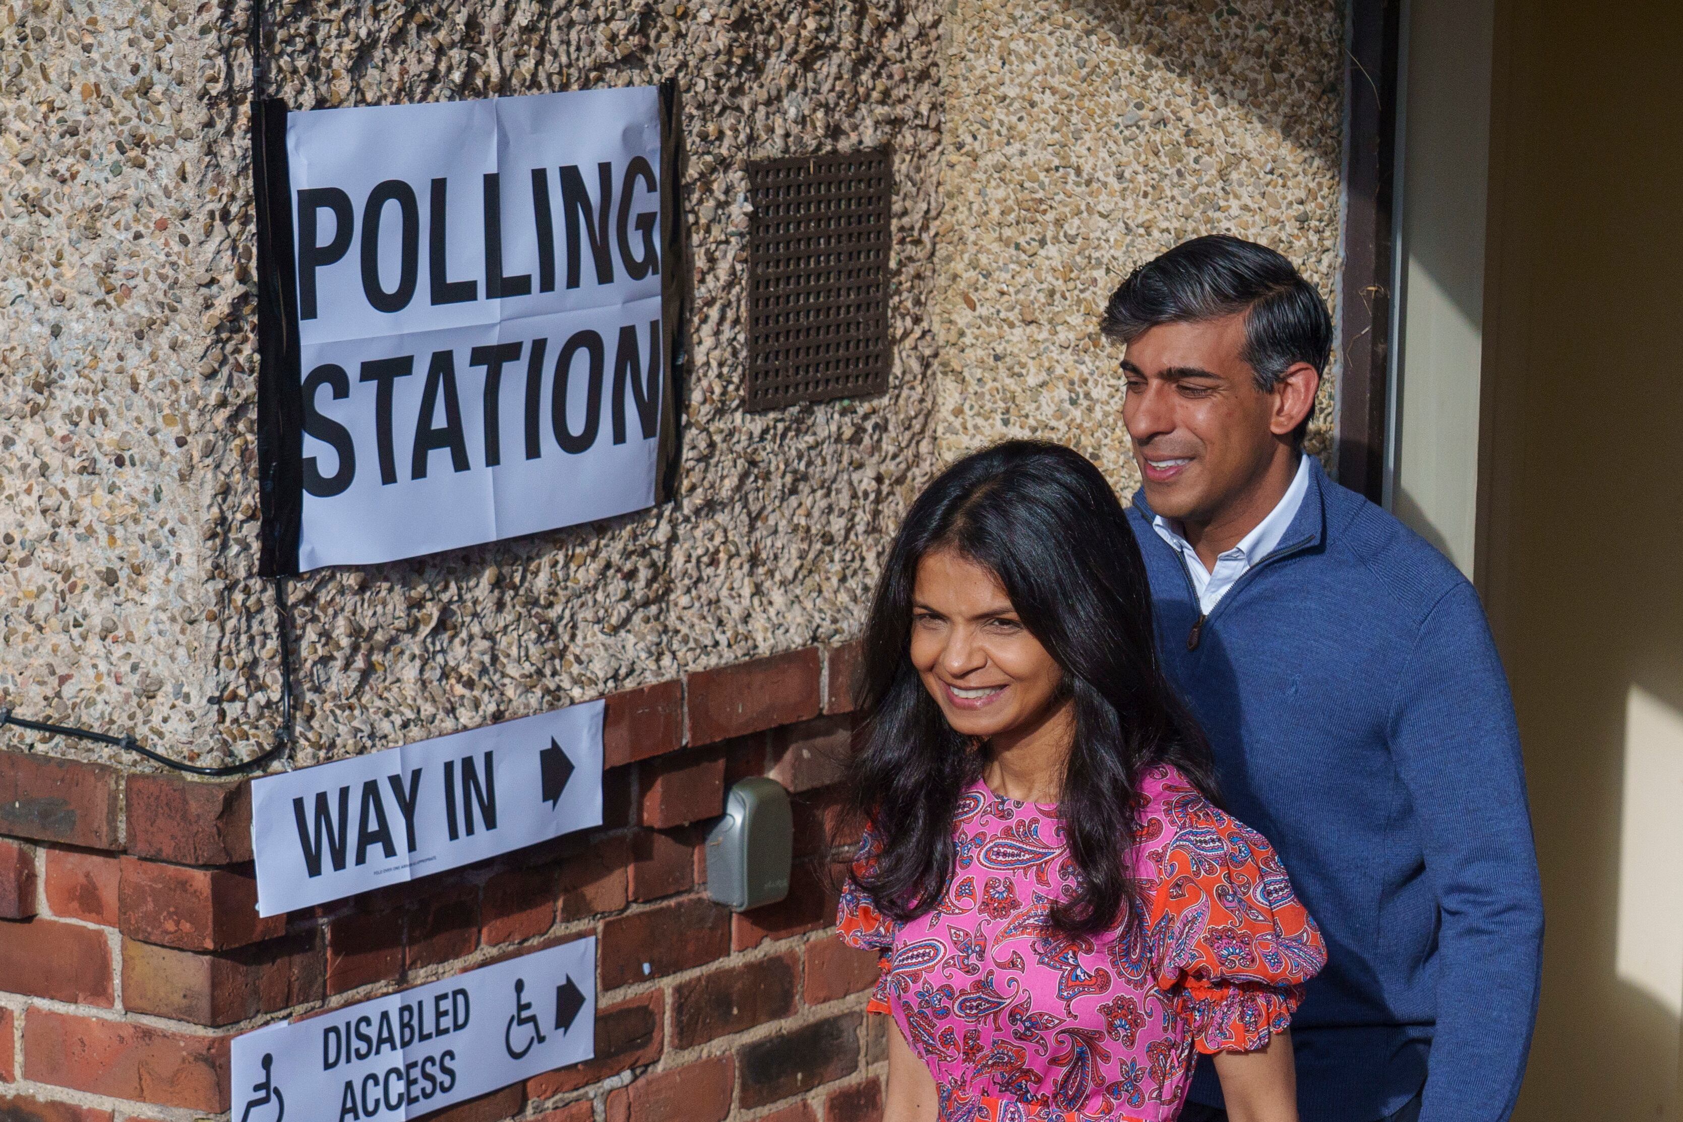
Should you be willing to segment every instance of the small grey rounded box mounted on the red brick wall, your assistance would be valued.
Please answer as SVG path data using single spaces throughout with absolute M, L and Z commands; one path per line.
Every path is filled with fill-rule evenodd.
M 725 816 L 707 834 L 707 897 L 732 912 L 789 895 L 794 818 L 776 779 L 744 779 L 725 794 Z

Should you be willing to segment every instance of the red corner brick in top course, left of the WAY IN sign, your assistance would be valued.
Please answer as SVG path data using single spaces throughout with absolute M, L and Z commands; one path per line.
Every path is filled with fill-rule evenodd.
M 251 860 L 251 784 L 185 775 L 130 775 L 125 791 L 131 855 L 177 865 Z

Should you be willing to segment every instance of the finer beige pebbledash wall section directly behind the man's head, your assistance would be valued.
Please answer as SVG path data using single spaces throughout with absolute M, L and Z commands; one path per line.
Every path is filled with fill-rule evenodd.
M 1269 244 L 1331 304 L 1341 5 L 954 0 L 939 449 L 1037 436 L 1138 484 L 1111 289 L 1198 234 Z M 1311 449 L 1331 437 L 1331 378 Z

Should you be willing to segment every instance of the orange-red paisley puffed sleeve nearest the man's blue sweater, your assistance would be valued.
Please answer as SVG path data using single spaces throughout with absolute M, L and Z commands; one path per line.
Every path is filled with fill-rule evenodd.
M 1202 799 L 1200 799 L 1202 802 Z M 1165 846 L 1151 942 L 1198 1051 L 1256 1051 L 1291 1023 L 1326 944 L 1267 838 L 1208 802 Z

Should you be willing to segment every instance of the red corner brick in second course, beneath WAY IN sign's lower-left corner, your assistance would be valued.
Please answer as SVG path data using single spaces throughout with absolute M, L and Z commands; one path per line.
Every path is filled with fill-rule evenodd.
M 125 856 L 118 927 L 130 939 L 180 950 L 226 950 L 286 932 L 286 917 L 257 915 L 249 870 L 188 868 Z

